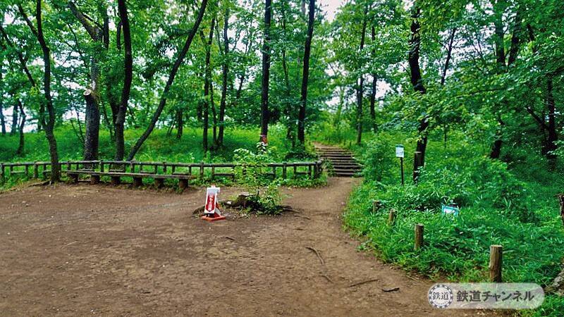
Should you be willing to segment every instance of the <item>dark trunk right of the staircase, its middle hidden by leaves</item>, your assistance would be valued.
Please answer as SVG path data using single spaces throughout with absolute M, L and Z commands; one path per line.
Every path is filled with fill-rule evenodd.
M 421 68 L 419 68 L 419 47 L 421 46 L 421 37 L 419 31 L 421 30 L 421 25 L 419 24 L 419 14 L 420 9 L 417 8 L 417 4 L 414 4 L 415 9 L 412 15 L 411 21 L 411 39 L 410 39 L 410 52 L 409 52 L 409 64 L 410 64 L 410 81 L 413 89 L 416 92 L 425 94 L 427 89 L 423 85 L 423 79 L 421 76 Z M 425 151 L 427 149 L 427 128 L 429 128 L 429 120 L 424 117 L 419 121 L 419 139 L 417 139 L 417 147 L 415 151 L 420 152 L 420 158 L 414 160 L 413 164 L 413 180 L 417 182 L 419 177 L 419 168 L 423 167 L 425 164 Z

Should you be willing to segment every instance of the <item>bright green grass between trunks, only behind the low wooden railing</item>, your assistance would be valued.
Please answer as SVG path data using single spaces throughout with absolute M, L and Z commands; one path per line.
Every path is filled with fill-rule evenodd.
M 142 130 L 125 131 L 126 154 L 142 132 Z M 170 136 L 166 135 L 166 130 L 154 130 L 135 159 L 137 161 L 228 162 L 233 161 L 233 150 L 235 149 L 250 149 L 253 151 L 256 149 L 259 140 L 258 130 L 234 128 L 226 130 L 225 133 L 224 147 L 204 154 L 202 150 L 202 129 L 200 128 L 185 128 L 181 139 L 176 139 L 176 130 Z M 82 142 L 71 127 L 61 126 L 55 130 L 55 135 L 61 161 L 82 159 Z M 0 161 L 49 161 L 49 147 L 44 133 L 25 134 L 25 153 L 23 156 L 16 156 L 18 142 L 18 135 L 0 136 Z M 211 132 L 209 142 L 209 144 L 213 142 Z M 269 145 L 272 150 L 272 159 L 275 161 L 295 161 L 288 157 L 291 154 L 291 144 L 285 138 L 283 127 L 271 126 Z M 309 149 L 311 149 L 310 146 Z M 106 130 L 100 132 L 99 156 L 100 159 L 114 158 L 114 144 Z

